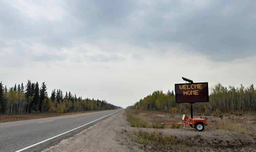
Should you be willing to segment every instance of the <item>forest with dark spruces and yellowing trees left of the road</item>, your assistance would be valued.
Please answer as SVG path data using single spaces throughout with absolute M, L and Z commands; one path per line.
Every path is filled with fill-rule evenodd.
M 30 114 L 30 113 L 66 113 L 75 111 L 109 110 L 117 109 L 106 100 L 83 99 L 71 92 L 63 93 L 54 89 L 48 95 L 47 86 L 43 82 L 39 88 L 38 82 L 21 83 L 10 88 L 0 82 L 0 114 Z

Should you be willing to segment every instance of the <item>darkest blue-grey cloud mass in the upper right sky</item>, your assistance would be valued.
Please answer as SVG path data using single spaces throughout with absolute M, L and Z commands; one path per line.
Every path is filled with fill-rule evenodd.
M 212 1 L 195 10 L 186 10 L 182 5 L 172 7 L 173 2 L 165 4 L 170 8 L 154 5 L 146 11 L 147 15 L 140 21 L 143 23 L 139 28 L 130 29 L 131 35 L 142 44 L 180 43 L 187 51 L 199 52 L 217 61 L 254 56 L 256 19 L 249 17 L 256 13 L 256 2 L 250 2 L 234 1 L 230 4 L 227 1 Z M 237 12 L 228 14 L 230 6 Z M 173 11 L 180 11 L 181 15 L 171 20 L 163 18 L 164 14 Z M 228 15 L 225 16 L 225 13 Z

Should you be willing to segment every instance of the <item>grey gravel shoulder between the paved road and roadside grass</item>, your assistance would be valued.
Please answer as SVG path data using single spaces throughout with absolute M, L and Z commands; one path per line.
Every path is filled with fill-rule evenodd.
M 128 128 L 124 110 L 98 122 L 69 139 L 51 146 L 43 152 L 90 151 L 90 152 L 130 152 L 143 151 L 139 144 L 125 134 Z

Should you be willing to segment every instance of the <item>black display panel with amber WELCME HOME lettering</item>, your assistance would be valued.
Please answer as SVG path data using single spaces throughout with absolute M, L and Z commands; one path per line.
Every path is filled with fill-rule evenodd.
M 209 102 L 208 82 L 175 84 L 176 103 Z

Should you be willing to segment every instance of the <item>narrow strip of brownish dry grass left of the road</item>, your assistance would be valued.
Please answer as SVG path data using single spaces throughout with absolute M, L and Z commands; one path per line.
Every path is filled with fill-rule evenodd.
M 57 116 L 64 116 L 64 115 L 72 115 L 72 114 L 84 114 L 84 113 L 93 113 L 98 112 L 99 110 L 95 111 L 79 111 L 79 112 L 72 112 L 72 113 L 43 113 L 43 114 L 22 114 L 22 115 L 0 115 L 0 123 L 3 122 L 12 122 L 12 121 L 21 121 L 21 120 L 30 120 L 30 119 L 40 119 L 40 118 L 49 118 L 49 117 L 57 117 Z M 102 111 L 102 110 L 100 110 Z

